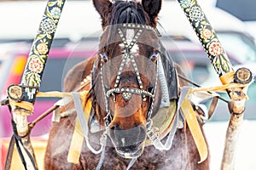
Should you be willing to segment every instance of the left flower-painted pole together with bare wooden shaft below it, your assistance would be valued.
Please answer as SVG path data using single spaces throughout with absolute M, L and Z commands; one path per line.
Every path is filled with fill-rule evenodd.
M 49 49 L 55 36 L 55 30 L 60 20 L 64 3 L 65 0 L 49 0 L 47 3 L 43 19 L 38 29 L 38 34 L 32 43 L 32 48 L 26 62 L 26 68 L 21 78 L 20 84 L 26 87 L 22 101 L 32 104 L 35 102 L 36 94 L 44 73 L 44 66 L 46 65 Z M 23 137 L 23 145 L 32 155 L 37 168 L 26 119 L 26 116 L 32 115 L 32 111 L 26 111 L 19 107 L 13 108 L 13 110 L 18 134 L 20 137 Z M 34 169 L 26 151 L 22 148 L 21 150 L 25 156 L 27 169 Z

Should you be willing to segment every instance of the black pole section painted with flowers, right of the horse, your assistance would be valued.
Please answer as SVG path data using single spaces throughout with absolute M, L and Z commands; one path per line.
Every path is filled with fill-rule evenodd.
M 196 0 L 177 1 L 180 3 L 180 6 L 187 15 L 187 18 L 193 26 L 197 37 L 199 37 L 203 48 L 207 51 L 208 57 L 218 75 L 221 77 L 222 75 L 233 71 L 230 59 L 224 52 L 215 31 L 212 29 L 212 26 Z

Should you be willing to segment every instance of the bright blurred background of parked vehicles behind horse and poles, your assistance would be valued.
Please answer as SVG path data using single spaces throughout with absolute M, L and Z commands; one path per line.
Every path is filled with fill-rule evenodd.
M 6 98 L 10 84 L 19 84 L 26 65 L 32 40 L 36 36 L 47 1 L 0 1 L 0 92 Z M 235 71 L 241 67 L 256 73 L 256 1 L 255 0 L 198 0 L 207 19 L 217 32 Z M 207 54 L 183 14 L 177 1 L 164 0 L 159 15 L 159 30 L 172 59 L 182 65 L 183 71 L 203 87 L 220 85 Z M 83 59 L 96 53 L 101 34 L 101 20 L 91 1 L 67 0 L 55 40 L 49 53 L 40 91 L 62 89 L 67 71 Z M 220 94 L 229 99 L 226 94 Z M 237 140 L 236 169 L 255 169 L 256 160 L 256 83 L 248 89 L 244 122 Z M 54 105 L 57 99 L 37 99 L 29 121 Z M 200 101 L 207 111 L 209 101 Z M 212 119 L 206 122 L 207 140 L 210 144 L 211 167 L 219 169 L 224 150 L 224 137 L 230 112 L 223 101 Z M 39 122 L 32 131 L 34 138 L 45 140 L 50 127 L 50 116 Z M 7 147 L 12 134 L 7 106 L 0 107 L 0 149 Z M 44 136 L 44 137 L 42 137 Z M 3 139 L 3 142 L 2 140 Z M 5 142 L 4 142 L 5 141 Z M 6 152 L 0 150 L 0 169 Z M 42 159 L 42 158 L 39 158 Z M 42 160 L 41 160 L 42 161 Z

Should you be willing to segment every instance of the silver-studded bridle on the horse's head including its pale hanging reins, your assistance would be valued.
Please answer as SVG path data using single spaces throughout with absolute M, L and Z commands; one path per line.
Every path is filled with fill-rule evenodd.
M 108 28 L 108 26 L 107 26 L 107 28 Z M 106 28 L 106 30 L 107 30 L 107 28 Z M 138 30 L 129 44 L 128 44 L 128 42 L 126 40 L 126 37 L 124 36 L 121 28 L 126 28 L 126 29 L 129 28 L 129 29 Z M 162 144 L 160 142 L 160 139 L 159 139 L 157 133 L 154 132 L 154 127 L 152 126 L 153 121 L 151 119 L 153 111 L 154 111 L 155 94 L 156 94 L 156 88 L 157 88 L 157 85 L 158 85 L 157 83 L 158 83 L 158 81 L 161 82 L 161 80 L 159 80 L 159 75 L 161 74 L 160 73 L 161 72 L 160 68 L 162 68 L 160 53 L 152 55 L 152 56 L 154 56 L 154 59 L 152 59 L 150 57 L 151 60 L 155 61 L 155 79 L 154 79 L 154 87 L 151 88 L 150 91 L 147 91 L 147 90 L 143 89 L 143 82 L 142 82 L 142 79 L 141 79 L 141 76 L 140 76 L 140 72 L 138 71 L 137 63 L 136 63 L 136 60 L 134 58 L 134 55 L 131 52 L 132 51 L 131 49 L 137 43 L 138 38 L 142 35 L 143 31 L 145 31 L 145 30 L 154 31 L 154 33 L 156 33 L 156 35 L 159 36 L 159 34 L 158 34 L 159 32 L 156 31 L 151 26 L 144 26 L 144 25 L 140 25 L 140 24 L 123 24 L 123 25 L 117 27 L 119 37 L 121 38 L 121 41 L 125 45 L 125 53 L 123 53 L 123 55 L 122 55 L 122 61 L 121 61 L 121 64 L 119 65 L 119 71 L 118 71 L 118 74 L 116 76 L 116 81 L 114 83 L 113 88 L 108 88 L 106 83 L 104 82 L 103 66 L 106 62 L 108 62 L 108 57 L 103 53 L 99 54 L 102 58 L 101 61 L 100 61 L 100 64 L 101 64 L 100 77 L 102 79 L 102 91 L 103 91 L 103 95 L 104 95 L 104 99 L 105 99 L 105 111 L 107 112 L 107 115 L 104 117 L 105 129 L 104 129 L 104 132 L 102 133 L 102 137 L 100 139 L 100 143 L 102 145 L 102 149 L 101 149 L 102 150 L 102 156 L 100 158 L 100 161 L 99 161 L 96 169 L 100 169 L 102 167 L 105 147 L 106 147 L 106 144 L 107 144 L 108 130 L 109 130 L 111 122 L 113 121 L 113 117 L 112 117 L 111 111 L 109 109 L 109 100 L 110 100 L 110 97 L 113 96 L 113 102 L 116 102 L 115 101 L 115 95 L 116 94 L 122 94 L 122 97 L 123 97 L 123 99 L 125 99 L 125 102 L 127 102 L 127 101 L 129 101 L 129 99 L 131 99 L 132 94 L 142 95 L 143 102 L 147 101 L 146 96 L 148 96 L 149 105 L 148 105 L 148 111 L 147 111 L 147 124 L 146 124 L 148 139 L 152 142 L 152 144 L 154 144 L 154 147 L 158 150 L 170 150 L 170 148 L 171 148 L 172 137 L 173 137 L 172 133 L 170 133 L 168 135 L 168 138 L 166 140 L 166 144 Z M 131 60 L 133 70 L 135 71 L 135 76 L 136 76 L 136 79 L 137 79 L 138 88 L 128 88 L 128 87 L 127 88 L 119 88 L 119 83 L 121 81 L 121 74 L 122 74 L 122 72 L 125 68 L 125 63 L 128 59 Z M 95 65 L 96 65 L 96 62 L 95 62 Z M 161 83 L 160 83 L 160 85 L 161 85 Z M 176 126 L 174 126 L 174 127 L 176 127 Z M 137 157 L 132 158 L 128 167 L 131 167 L 136 160 L 137 160 Z

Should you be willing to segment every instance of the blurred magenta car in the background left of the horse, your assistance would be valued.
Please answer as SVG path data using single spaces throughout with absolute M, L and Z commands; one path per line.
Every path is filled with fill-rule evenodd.
M 11 48 L 10 51 L 0 56 L 1 99 L 6 98 L 6 90 L 9 85 L 20 83 L 20 79 L 26 65 L 26 59 L 29 54 L 30 45 L 31 44 L 27 44 L 26 42 L 9 44 L 9 47 Z M 70 46 L 64 45 L 56 47 L 55 45 L 56 44 L 53 44 L 53 47 L 50 50 L 47 65 L 44 70 L 44 77 L 40 87 L 40 91 L 42 92 L 54 90 L 62 91 L 62 78 L 66 75 L 67 71 L 79 61 L 87 59 L 95 53 L 94 50 L 90 51 L 86 48 L 84 50 L 79 50 Z M 16 51 L 14 50 L 15 48 L 19 50 Z M 57 99 L 52 98 L 36 99 L 34 114 L 32 116 L 28 116 L 28 121 L 31 122 L 44 111 L 47 111 L 50 106 L 55 104 L 56 100 Z M 49 132 L 51 123 L 50 117 L 51 116 L 47 116 L 43 121 L 38 122 L 37 126 L 32 130 L 32 136 L 38 136 Z M 1 106 L 0 137 L 9 137 L 11 135 L 12 129 L 8 107 Z

